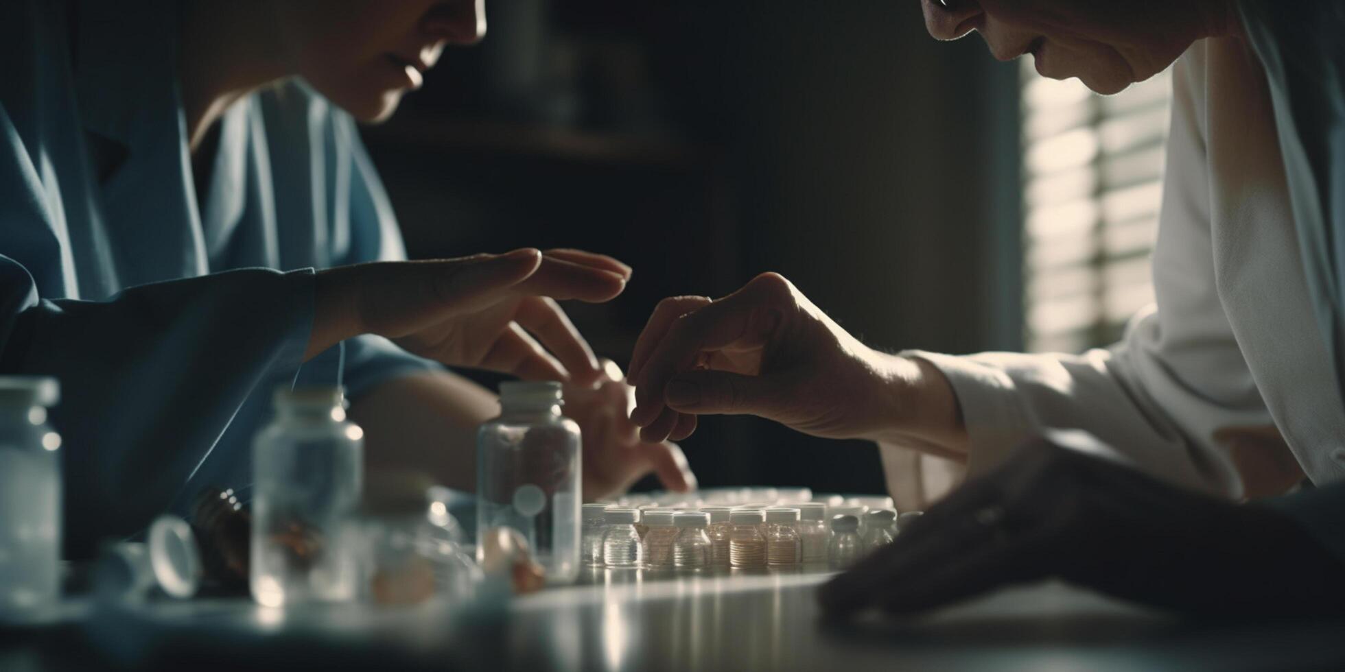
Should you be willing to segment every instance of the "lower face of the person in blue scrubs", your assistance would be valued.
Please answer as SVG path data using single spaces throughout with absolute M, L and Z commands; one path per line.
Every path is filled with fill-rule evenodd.
M 360 121 L 382 121 L 447 44 L 486 35 L 486 0 L 281 0 L 288 70 Z

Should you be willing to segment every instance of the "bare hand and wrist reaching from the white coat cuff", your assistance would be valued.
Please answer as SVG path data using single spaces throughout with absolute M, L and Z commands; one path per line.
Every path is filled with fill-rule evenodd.
M 877 352 L 788 280 L 764 273 L 718 300 L 663 300 L 640 333 L 631 419 L 646 441 L 699 414 L 752 414 L 829 438 L 897 438 L 956 452 L 956 399 L 932 366 Z

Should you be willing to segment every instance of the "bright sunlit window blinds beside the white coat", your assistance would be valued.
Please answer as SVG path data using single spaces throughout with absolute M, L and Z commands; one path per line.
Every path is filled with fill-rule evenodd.
M 1077 352 L 1153 301 L 1169 73 L 1111 95 L 1022 69 L 1025 340 Z

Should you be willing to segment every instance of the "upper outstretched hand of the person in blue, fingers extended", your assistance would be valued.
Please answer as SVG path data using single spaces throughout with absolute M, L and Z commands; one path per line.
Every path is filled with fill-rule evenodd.
M 340 266 L 317 274 L 308 355 L 377 333 L 444 364 L 592 383 L 597 358 L 555 300 L 608 301 L 629 276 L 580 250 Z

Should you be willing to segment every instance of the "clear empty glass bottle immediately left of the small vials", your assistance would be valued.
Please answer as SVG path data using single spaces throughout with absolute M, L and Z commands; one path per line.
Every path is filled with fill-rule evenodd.
M 562 405 L 560 383 L 502 383 L 500 417 L 476 434 L 477 555 L 491 530 L 514 528 L 547 583 L 580 571 L 580 427 Z

